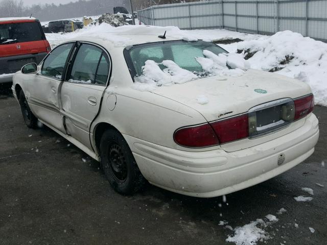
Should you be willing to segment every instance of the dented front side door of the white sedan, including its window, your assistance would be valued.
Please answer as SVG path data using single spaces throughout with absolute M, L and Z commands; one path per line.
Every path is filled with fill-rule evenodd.
M 59 91 L 65 76 L 67 60 L 75 42 L 56 47 L 43 61 L 41 72 L 28 82 L 28 102 L 33 113 L 42 121 L 65 133 L 60 113 Z

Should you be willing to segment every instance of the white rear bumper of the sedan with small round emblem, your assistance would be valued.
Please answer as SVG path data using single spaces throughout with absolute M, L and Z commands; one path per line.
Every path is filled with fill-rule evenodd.
M 152 184 L 194 197 L 217 197 L 271 179 L 307 159 L 318 141 L 311 114 L 299 129 L 248 149 L 185 152 L 124 135 L 137 165 Z M 278 165 L 278 157 L 285 161 Z

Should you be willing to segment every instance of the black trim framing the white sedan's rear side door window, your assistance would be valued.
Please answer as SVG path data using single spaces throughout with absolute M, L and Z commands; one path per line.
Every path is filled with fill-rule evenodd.
M 111 56 L 109 54 L 109 52 L 101 45 L 97 44 L 97 43 L 94 43 L 94 42 L 88 42 L 88 41 L 77 41 L 78 43 L 80 43 L 78 49 L 76 50 L 75 54 L 74 54 L 74 57 L 73 59 L 71 60 L 71 68 L 73 67 L 74 63 L 75 63 L 75 59 L 76 59 L 76 56 L 77 56 L 77 53 L 79 51 L 79 48 L 82 44 L 89 44 L 89 45 L 93 45 L 93 46 L 96 46 L 98 48 L 100 48 L 100 50 L 102 50 L 102 53 L 101 53 L 101 57 L 99 59 L 99 62 L 98 62 L 98 65 L 97 65 L 97 69 L 96 69 L 96 72 L 98 71 L 98 67 L 99 67 L 99 64 L 100 64 L 100 61 L 101 61 L 101 58 L 102 58 L 102 54 L 105 53 L 109 59 L 109 71 L 108 71 L 108 78 L 107 78 L 107 82 L 106 84 L 95 84 L 95 83 L 91 83 L 91 84 L 85 84 L 85 83 L 78 83 L 78 82 L 69 82 L 67 80 L 68 77 L 70 77 L 71 75 L 71 70 L 69 70 L 69 73 L 67 72 L 67 77 L 65 77 L 65 80 L 64 82 L 67 82 L 67 83 L 74 83 L 74 84 L 82 84 L 82 85 L 96 85 L 96 86 L 104 86 L 104 87 L 108 87 L 109 86 L 109 81 L 110 81 L 110 78 L 111 78 L 111 71 L 112 71 L 112 59 L 111 59 Z M 96 73 L 97 75 L 97 73 Z

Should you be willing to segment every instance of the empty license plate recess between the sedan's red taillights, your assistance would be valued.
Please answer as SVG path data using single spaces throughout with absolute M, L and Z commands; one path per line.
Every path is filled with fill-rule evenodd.
M 280 130 L 294 120 L 292 99 L 282 99 L 255 106 L 249 110 L 249 137 L 259 137 Z

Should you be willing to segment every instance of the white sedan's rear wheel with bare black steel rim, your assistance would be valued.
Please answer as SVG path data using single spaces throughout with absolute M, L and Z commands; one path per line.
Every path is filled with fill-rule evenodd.
M 104 132 L 100 142 L 101 165 L 112 188 L 122 194 L 143 189 L 146 180 L 124 137 L 116 130 Z

